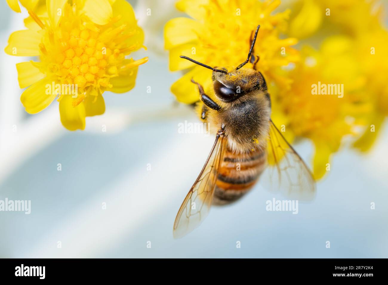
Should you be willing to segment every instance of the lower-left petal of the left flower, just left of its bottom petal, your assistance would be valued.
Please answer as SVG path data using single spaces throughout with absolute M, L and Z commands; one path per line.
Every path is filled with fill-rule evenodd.
M 40 79 L 22 93 L 20 100 L 29 114 L 36 114 L 42 111 L 57 97 L 55 94 L 46 92 L 46 84 L 52 85 L 52 78 L 45 77 Z

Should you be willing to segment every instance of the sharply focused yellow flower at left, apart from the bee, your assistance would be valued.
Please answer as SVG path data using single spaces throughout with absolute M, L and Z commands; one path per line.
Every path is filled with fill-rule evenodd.
M 9 55 L 40 57 L 16 66 L 20 87 L 30 86 L 21 102 L 35 114 L 59 97 L 62 124 L 84 130 L 85 116 L 104 113 L 104 91 L 135 85 L 137 67 L 148 58 L 125 55 L 143 47 L 143 31 L 125 0 L 47 0 L 35 11 L 24 21 L 28 29 L 12 33 L 5 48 Z

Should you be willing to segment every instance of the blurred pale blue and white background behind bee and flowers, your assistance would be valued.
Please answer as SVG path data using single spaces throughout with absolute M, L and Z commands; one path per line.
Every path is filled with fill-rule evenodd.
M 15 29 L 11 19 L 2 1 L 2 39 Z M 178 133 L 178 123 L 197 120 L 169 91 L 179 74 L 168 72 L 166 54 L 134 57 L 145 55 L 150 60 L 140 66 L 131 92 L 104 94 L 107 111 L 123 111 L 129 123 L 109 120 L 106 113 L 99 118 L 105 133 L 92 127 L 95 118 L 87 119 L 84 132 L 61 127 L 52 142 L 0 182 L 0 199 L 31 200 L 29 215 L 0 212 L 0 257 L 388 257 L 387 124 L 368 155 L 352 150 L 334 155 L 316 199 L 299 204 L 297 215 L 266 211 L 266 200 L 284 198 L 257 185 L 236 204 L 212 209 L 197 230 L 174 240 L 175 214 L 213 138 Z M 2 77 L 15 69 L 3 67 Z M 16 77 L 1 82 L 17 85 Z M 147 86 L 152 93 L 146 93 Z M 10 104 L 23 110 L 20 93 Z M 57 109 L 57 102 L 43 112 L 51 108 Z M 58 116 L 52 120 L 60 124 Z M 116 124 L 123 126 L 115 129 Z M 310 143 L 296 149 L 310 161 Z

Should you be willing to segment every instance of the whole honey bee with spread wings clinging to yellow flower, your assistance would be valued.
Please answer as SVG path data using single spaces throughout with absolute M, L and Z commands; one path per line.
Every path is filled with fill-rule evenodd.
M 215 126 L 210 154 L 185 197 L 175 218 L 175 238 L 196 228 L 211 205 L 230 204 L 240 199 L 267 169 L 268 187 L 288 197 L 312 200 L 315 182 L 305 162 L 286 141 L 271 120 L 271 100 L 263 74 L 256 70 L 252 55 L 257 26 L 248 58 L 234 68 L 216 68 L 180 56 L 213 70 L 214 93 L 209 96 L 198 86 L 197 108 L 204 122 Z M 252 35 L 251 35 L 252 36 Z M 249 61 L 253 68 L 246 68 Z M 213 98 L 211 98 L 213 97 Z

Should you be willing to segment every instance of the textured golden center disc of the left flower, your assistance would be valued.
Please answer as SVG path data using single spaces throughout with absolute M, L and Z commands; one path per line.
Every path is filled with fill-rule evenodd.
M 99 26 L 85 16 L 73 14 L 72 9 L 67 11 L 71 16 L 62 17 L 58 27 L 45 26 L 34 12 L 29 11 L 35 22 L 45 30 L 39 45 L 42 71 L 54 76 L 56 81 L 77 85 L 79 94 L 93 92 L 93 95 L 98 95 L 112 87 L 109 83 L 111 77 L 148 60 L 144 58 L 130 64 L 125 60 L 126 54 L 142 45 L 126 45 L 125 40 L 135 35 L 136 30 L 126 24 L 114 26 L 121 16 Z

